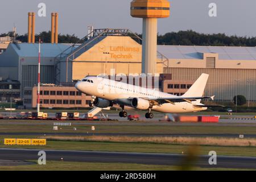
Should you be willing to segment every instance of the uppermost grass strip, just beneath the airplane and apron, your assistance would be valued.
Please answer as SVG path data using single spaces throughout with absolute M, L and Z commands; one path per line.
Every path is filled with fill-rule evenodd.
M 256 123 L 177 123 L 177 122 L 71 122 L 72 126 L 53 131 L 56 121 L 0 120 L 0 133 L 130 133 L 130 134 L 256 134 Z M 76 131 L 73 130 L 76 127 Z

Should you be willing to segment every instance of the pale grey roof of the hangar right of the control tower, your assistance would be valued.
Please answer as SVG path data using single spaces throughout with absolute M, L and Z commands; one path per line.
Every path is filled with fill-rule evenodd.
M 218 53 L 220 60 L 256 60 L 256 47 L 158 46 L 168 59 L 203 59 L 203 53 Z

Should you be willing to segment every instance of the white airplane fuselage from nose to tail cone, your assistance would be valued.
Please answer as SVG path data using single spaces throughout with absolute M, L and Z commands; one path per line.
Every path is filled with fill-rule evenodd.
M 113 101 L 115 104 L 130 107 L 132 107 L 131 98 L 147 99 L 178 97 L 172 94 L 159 92 L 155 89 L 146 89 L 141 86 L 134 86 L 123 82 L 92 76 L 85 77 L 82 81 L 78 82 L 76 88 L 82 93 Z M 192 101 L 190 103 L 186 101 L 170 102 L 152 105 L 150 109 L 162 113 L 188 113 L 207 109 L 207 107 L 195 106 L 196 103 L 198 103 L 198 101 Z

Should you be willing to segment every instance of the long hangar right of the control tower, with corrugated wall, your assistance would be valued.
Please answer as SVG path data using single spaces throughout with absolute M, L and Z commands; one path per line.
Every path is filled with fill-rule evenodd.
M 163 72 L 171 73 L 173 82 L 195 81 L 208 73 L 205 95 L 218 101 L 237 94 L 256 100 L 256 47 L 158 46 L 158 51 L 168 57 Z

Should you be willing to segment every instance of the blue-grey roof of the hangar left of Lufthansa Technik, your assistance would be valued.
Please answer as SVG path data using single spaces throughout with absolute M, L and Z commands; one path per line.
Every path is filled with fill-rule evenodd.
M 38 44 L 11 43 L 9 46 L 13 47 L 13 49 L 19 55 L 19 57 L 38 57 L 38 48 L 39 48 Z M 71 44 L 42 43 L 41 55 L 42 57 L 55 57 L 59 55 L 59 53 L 65 51 L 65 49 L 69 48 L 70 46 Z

